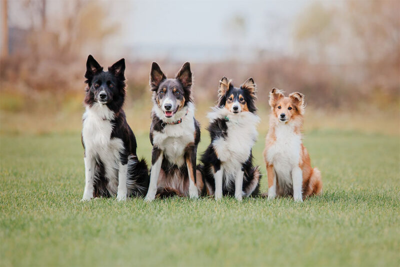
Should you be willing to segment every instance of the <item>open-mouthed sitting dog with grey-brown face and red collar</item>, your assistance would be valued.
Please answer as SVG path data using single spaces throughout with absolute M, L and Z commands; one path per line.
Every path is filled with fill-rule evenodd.
M 200 127 L 194 118 L 191 97 L 192 73 L 184 63 L 174 79 L 167 79 L 157 63 L 150 71 L 151 112 L 150 184 L 145 197 L 156 194 L 197 198 L 203 183 L 196 179 L 196 153 Z

